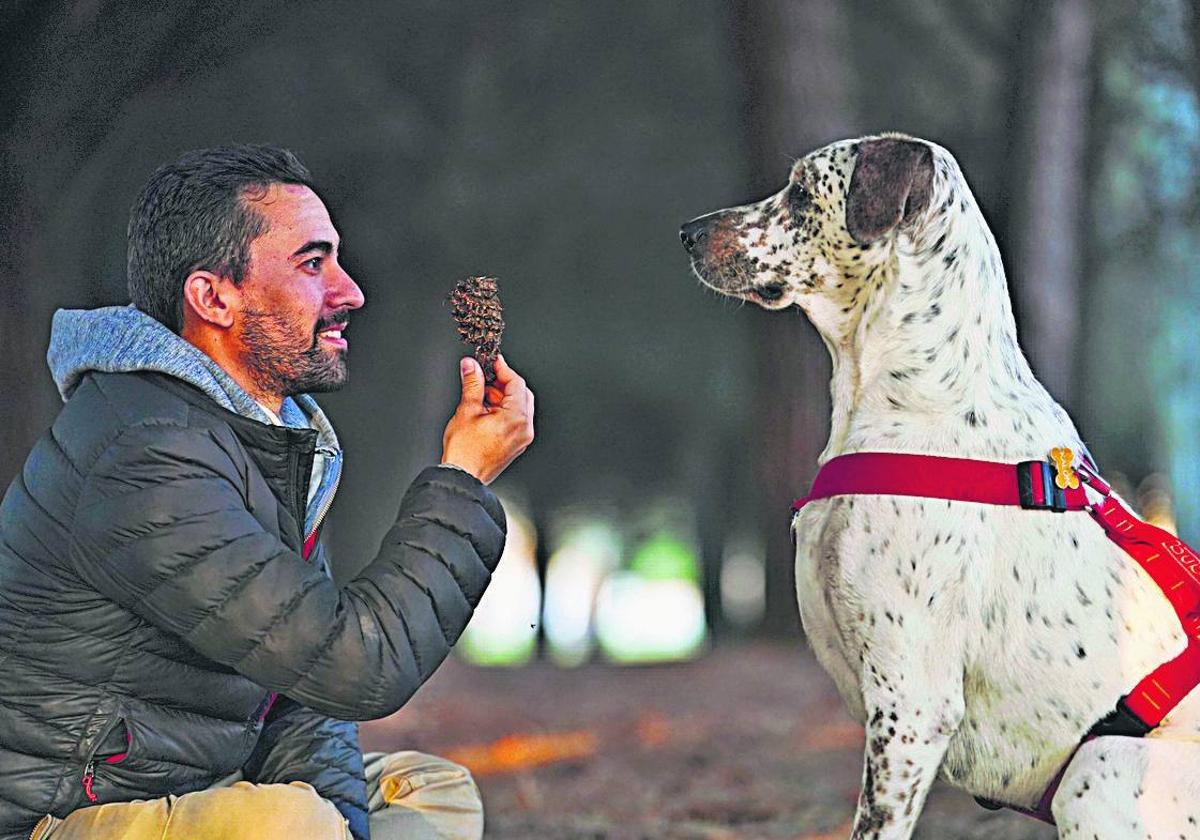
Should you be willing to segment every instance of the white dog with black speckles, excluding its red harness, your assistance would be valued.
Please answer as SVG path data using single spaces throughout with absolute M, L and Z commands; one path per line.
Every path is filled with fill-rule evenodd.
M 706 286 L 799 306 L 821 334 L 833 356 L 821 463 L 1086 451 L 1018 347 L 996 242 L 941 146 L 834 143 L 779 193 L 682 236 Z M 910 836 L 938 772 L 1037 809 L 1069 761 L 1043 803 L 1060 836 L 1200 838 L 1200 691 L 1145 738 L 1080 746 L 1187 644 L 1159 586 L 1091 516 L 848 494 L 805 505 L 793 529 L 805 632 L 866 728 L 853 836 Z

